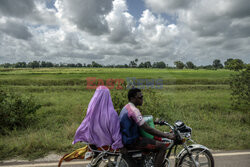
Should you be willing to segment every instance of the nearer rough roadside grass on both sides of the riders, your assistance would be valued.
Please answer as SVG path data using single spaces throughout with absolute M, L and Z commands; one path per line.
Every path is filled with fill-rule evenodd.
M 12 131 L 8 136 L 0 136 L 1 160 L 13 157 L 35 159 L 51 152 L 68 153 L 81 147 L 81 144 L 71 143 L 94 91 L 76 87 L 40 87 L 40 91 L 33 91 L 33 87 L 8 88 L 33 95 L 42 108 L 36 113 L 39 119 L 34 125 L 22 131 Z M 184 121 L 193 128 L 193 139 L 211 149 L 249 149 L 249 112 L 230 109 L 227 86 L 210 88 L 179 85 L 156 90 L 156 97 L 162 97 L 161 105 L 156 111 L 142 112 L 153 113 L 154 117 L 170 123 Z M 147 92 L 144 97 L 148 98 L 145 101 L 153 100 Z M 168 131 L 167 128 L 159 128 Z

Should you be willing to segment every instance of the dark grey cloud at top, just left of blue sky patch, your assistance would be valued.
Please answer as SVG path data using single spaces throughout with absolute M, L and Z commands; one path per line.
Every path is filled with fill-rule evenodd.
M 112 0 L 63 0 L 63 17 L 93 35 L 109 32 L 104 16 L 112 9 Z

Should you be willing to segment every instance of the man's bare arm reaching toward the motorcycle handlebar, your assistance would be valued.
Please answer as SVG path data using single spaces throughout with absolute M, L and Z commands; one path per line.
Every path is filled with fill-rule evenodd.
M 171 140 L 175 139 L 175 135 L 173 133 L 163 133 L 157 129 L 151 128 L 146 122 L 140 126 L 145 132 L 158 137 L 165 137 Z

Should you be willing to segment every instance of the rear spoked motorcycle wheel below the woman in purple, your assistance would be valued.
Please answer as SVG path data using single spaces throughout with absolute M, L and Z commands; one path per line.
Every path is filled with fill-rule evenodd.
M 97 164 L 96 167 L 115 167 L 117 162 L 117 156 L 110 156 L 108 159 L 103 160 L 101 159 Z M 130 162 L 127 158 L 121 158 L 119 163 L 119 167 L 133 167 L 132 162 Z

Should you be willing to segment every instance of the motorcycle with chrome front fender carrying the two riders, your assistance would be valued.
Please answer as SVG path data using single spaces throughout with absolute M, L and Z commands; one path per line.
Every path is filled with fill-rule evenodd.
M 170 155 L 174 149 L 175 167 L 214 167 L 214 158 L 209 149 L 203 145 L 196 144 L 191 139 L 192 129 L 186 126 L 182 121 L 176 121 L 174 125 L 170 125 L 166 121 L 154 122 L 155 125 L 169 126 L 171 131 L 175 134 L 176 140 L 169 140 L 166 138 L 155 138 L 164 142 L 167 146 L 167 153 L 165 155 L 164 167 L 170 167 Z M 188 145 L 188 142 L 193 144 Z M 176 149 L 182 146 L 183 149 L 176 155 Z M 154 152 L 146 152 L 141 150 L 128 150 L 126 154 L 118 150 L 108 148 L 95 148 L 88 145 L 89 152 L 86 153 L 85 158 L 91 157 L 91 162 L 88 167 L 153 167 Z

